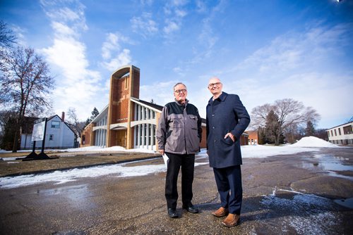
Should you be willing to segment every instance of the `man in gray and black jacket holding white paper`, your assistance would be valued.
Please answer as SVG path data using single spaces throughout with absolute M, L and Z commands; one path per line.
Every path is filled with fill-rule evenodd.
M 198 109 L 186 99 L 188 91 L 181 82 L 174 85 L 175 101 L 167 103 L 162 109 L 156 137 L 158 151 L 169 158 L 165 181 L 165 198 L 169 217 L 177 214 L 177 180 L 181 167 L 181 194 L 183 208 L 198 213 L 191 203 L 193 198 L 193 168 L 195 153 L 201 142 L 201 118 Z

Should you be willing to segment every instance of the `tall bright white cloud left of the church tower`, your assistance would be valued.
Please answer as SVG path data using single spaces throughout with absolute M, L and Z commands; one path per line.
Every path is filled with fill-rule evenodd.
M 54 31 L 52 46 L 40 50 L 56 74 L 54 111 L 57 114 L 75 107 L 78 118 L 85 120 L 95 106 L 105 105 L 101 97 L 107 89 L 100 86 L 100 72 L 90 69 L 86 46 L 80 41 L 81 32 L 88 30 L 84 6 L 78 1 L 41 3 Z

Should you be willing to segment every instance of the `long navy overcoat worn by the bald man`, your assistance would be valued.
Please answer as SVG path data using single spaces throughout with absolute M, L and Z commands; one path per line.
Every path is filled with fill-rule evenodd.
M 222 92 L 211 98 L 206 107 L 206 135 L 210 167 L 224 168 L 241 165 L 240 137 L 250 122 L 249 113 L 239 96 Z M 225 134 L 231 132 L 236 141 Z

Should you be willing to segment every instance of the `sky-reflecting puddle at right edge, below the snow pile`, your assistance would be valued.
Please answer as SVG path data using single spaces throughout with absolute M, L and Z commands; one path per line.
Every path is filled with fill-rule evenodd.
M 342 160 L 345 158 L 335 157 L 330 154 L 320 155 L 316 154 L 313 156 L 314 163 L 302 162 L 301 167 L 309 170 L 323 170 L 328 172 L 330 176 L 341 177 L 345 179 L 350 179 L 353 181 L 353 177 L 342 175 L 336 171 L 353 171 L 353 165 L 345 165 Z

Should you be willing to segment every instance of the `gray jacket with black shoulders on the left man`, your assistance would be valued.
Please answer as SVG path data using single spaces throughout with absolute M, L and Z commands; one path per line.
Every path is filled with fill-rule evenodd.
M 167 153 L 195 154 L 200 151 L 201 117 L 198 109 L 186 100 L 167 103 L 162 109 L 156 132 L 158 148 Z

